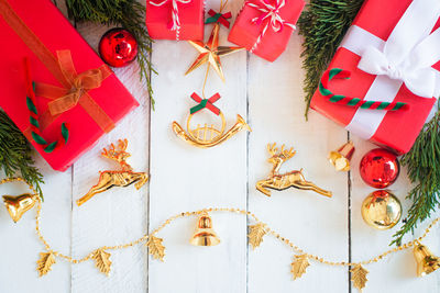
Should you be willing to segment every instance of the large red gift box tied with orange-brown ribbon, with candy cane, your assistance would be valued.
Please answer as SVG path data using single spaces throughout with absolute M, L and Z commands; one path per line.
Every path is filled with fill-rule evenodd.
M 0 0 L 0 108 L 55 170 L 139 105 L 50 0 Z

